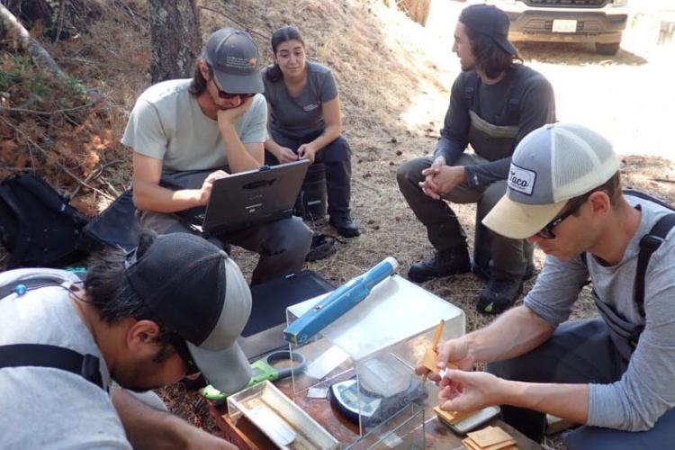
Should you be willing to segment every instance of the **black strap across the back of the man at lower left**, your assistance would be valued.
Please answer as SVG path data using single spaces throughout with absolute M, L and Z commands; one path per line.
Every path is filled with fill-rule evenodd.
M 99 360 L 94 355 L 82 355 L 70 348 L 44 344 L 0 346 L 0 369 L 23 366 L 64 370 L 105 389 L 98 367 Z

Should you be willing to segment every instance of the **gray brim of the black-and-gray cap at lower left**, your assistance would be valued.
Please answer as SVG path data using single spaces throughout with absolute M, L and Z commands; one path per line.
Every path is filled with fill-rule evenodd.
M 238 344 L 219 351 L 204 350 L 187 341 L 186 344 L 204 378 L 220 392 L 241 391 L 250 381 L 251 365 Z

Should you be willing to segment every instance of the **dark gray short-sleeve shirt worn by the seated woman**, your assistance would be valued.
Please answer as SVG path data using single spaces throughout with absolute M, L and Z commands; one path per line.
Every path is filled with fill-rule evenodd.
M 338 85 L 329 67 L 308 62 L 307 83 L 297 96 L 289 94 L 283 77 L 275 82 L 268 79 L 267 71 L 270 68 L 266 67 L 262 73 L 265 98 L 271 106 L 270 128 L 293 138 L 323 131 L 326 124 L 321 104 L 338 96 Z

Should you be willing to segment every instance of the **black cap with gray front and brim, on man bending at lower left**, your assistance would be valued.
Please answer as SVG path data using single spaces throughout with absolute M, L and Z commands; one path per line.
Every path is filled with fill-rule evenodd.
M 157 236 L 126 277 L 150 320 L 180 338 L 204 377 L 221 392 L 237 392 L 251 368 L 236 340 L 251 312 L 251 292 L 228 254 L 189 233 Z

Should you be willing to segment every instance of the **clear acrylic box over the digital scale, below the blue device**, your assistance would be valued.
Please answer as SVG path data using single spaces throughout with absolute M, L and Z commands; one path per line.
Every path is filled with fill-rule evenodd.
M 289 307 L 287 323 L 293 323 L 323 297 Z M 424 416 L 426 412 L 433 417 L 437 386 L 423 384 L 414 367 L 432 344 L 440 320 L 445 320 L 442 339 L 464 334 L 464 311 L 399 275 L 388 277 L 363 302 L 307 343 L 290 345 L 292 353 L 302 354 L 307 361 L 302 373 L 293 374 L 296 401 L 308 403 L 310 398 L 316 399 L 315 405 L 320 400 L 328 402 L 322 398 L 327 391 L 328 399 L 332 395 L 341 397 L 347 407 L 341 411 L 333 408 L 332 413 L 315 419 L 335 431 L 336 419 L 331 416 L 341 416 L 337 418 L 339 423 L 353 431 L 338 437 L 345 446 L 362 448 L 366 436 L 371 441 L 373 437 L 389 436 L 401 423 L 418 420 L 417 428 L 410 430 L 421 429 L 422 440 L 416 440 L 412 447 L 424 448 Z M 396 434 L 396 439 L 408 438 L 408 434 Z

